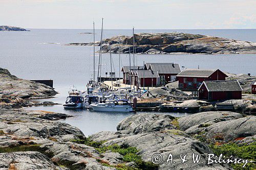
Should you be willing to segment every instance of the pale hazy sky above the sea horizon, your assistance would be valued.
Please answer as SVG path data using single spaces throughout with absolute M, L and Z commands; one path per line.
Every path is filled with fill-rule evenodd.
M 0 25 L 90 29 L 256 28 L 256 0 L 0 0 Z

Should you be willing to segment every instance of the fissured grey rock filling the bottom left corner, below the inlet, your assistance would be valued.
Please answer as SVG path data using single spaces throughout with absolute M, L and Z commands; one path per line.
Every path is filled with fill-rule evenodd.
M 103 159 L 93 147 L 71 142 L 86 137 L 79 129 L 55 121 L 66 117 L 45 111 L 0 110 L 0 168 L 115 169 L 99 163 L 111 162 L 111 152 Z

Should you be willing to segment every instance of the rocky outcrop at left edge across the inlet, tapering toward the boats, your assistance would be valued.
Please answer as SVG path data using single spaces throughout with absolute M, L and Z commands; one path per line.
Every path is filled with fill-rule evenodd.
M 23 99 L 50 98 L 57 92 L 45 84 L 19 79 L 0 68 L 0 107 L 18 107 Z

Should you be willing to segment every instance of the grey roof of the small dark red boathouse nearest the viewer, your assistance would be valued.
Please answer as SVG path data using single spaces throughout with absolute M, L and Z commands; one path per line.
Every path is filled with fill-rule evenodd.
M 203 84 L 208 91 L 243 91 L 238 80 L 204 81 Z

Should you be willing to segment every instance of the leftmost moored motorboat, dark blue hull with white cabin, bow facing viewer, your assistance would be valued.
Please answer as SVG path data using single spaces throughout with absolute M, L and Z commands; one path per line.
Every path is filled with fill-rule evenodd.
M 68 93 L 69 96 L 63 105 L 65 109 L 82 109 L 85 107 L 84 98 L 81 95 L 81 92 L 78 91 L 74 86 L 71 87 Z

